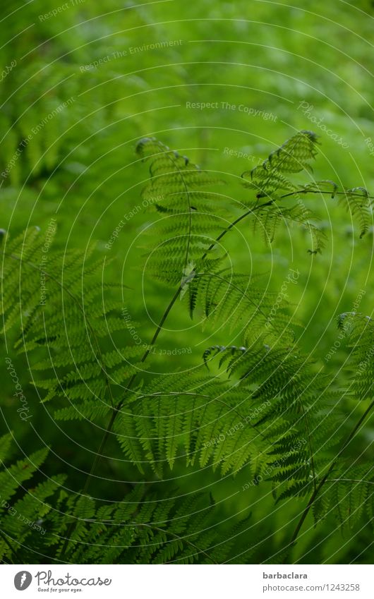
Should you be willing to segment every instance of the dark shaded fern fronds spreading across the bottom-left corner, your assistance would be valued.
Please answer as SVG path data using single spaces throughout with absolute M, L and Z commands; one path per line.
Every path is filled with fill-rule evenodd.
M 10 435 L 1 437 L 0 447 L 9 444 Z M 231 544 L 224 547 L 215 528 L 215 505 L 202 493 L 179 503 L 157 502 L 150 496 L 142 500 L 144 488 L 138 486 L 123 502 L 100 504 L 88 496 L 74 497 L 59 488 L 65 476 L 54 476 L 25 492 L 13 504 L 11 495 L 31 478 L 47 456 L 37 452 L 25 461 L 0 472 L 2 533 L 0 557 L 10 560 L 22 552 L 32 559 L 35 552 L 49 549 L 49 561 L 62 562 L 66 549 L 73 562 L 102 563 L 217 563 L 229 555 Z M 59 493 L 55 508 L 52 498 Z M 58 509 L 57 509 L 58 508 Z M 64 511 L 69 514 L 64 517 Z M 68 521 L 74 528 L 66 547 L 64 533 Z M 248 519 L 241 522 L 247 526 Z M 236 535 L 237 525 L 233 528 Z M 28 549 L 32 542 L 33 549 Z M 104 549 L 103 549 L 104 548 Z

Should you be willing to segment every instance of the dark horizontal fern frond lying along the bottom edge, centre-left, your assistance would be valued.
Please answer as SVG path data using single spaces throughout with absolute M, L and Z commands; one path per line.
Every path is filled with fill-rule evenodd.
M 142 500 L 144 489 L 138 485 L 123 502 L 101 504 L 79 497 L 63 500 L 60 507 L 76 521 L 76 529 L 66 549 L 76 563 L 217 563 L 229 555 L 231 543 L 222 543 L 217 535 L 217 508 L 206 494 L 186 499 L 164 500 L 150 495 Z M 47 522 L 52 533 L 61 516 L 51 512 Z M 63 557 L 64 530 L 54 546 Z M 238 538 L 248 528 L 248 518 L 228 528 L 228 536 Z M 55 538 L 58 538 L 54 535 Z M 89 539 L 89 541 L 88 541 Z M 217 549 L 219 547 L 219 550 Z M 101 557 L 99 557 L 101 552 Z

